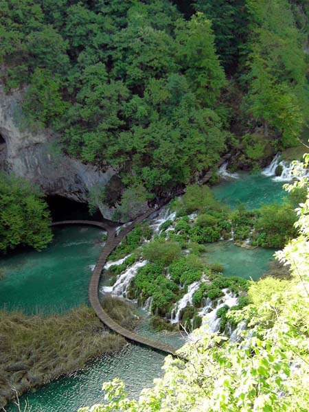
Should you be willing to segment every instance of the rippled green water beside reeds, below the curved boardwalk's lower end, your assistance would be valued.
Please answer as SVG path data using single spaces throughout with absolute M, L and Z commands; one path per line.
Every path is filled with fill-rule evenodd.
M 174 347 L 183 345 L 184 341 L 179 334 L 150 331 L 145 312 L 138 312 L 144 317 L 137 328 L 138 333 L 170 343 Z M 120 352 L 100 356 L 82 370 L 54 380 L 36 392 L 21 397 L 21 405 L 27 400 L 32 406 L 32 412 L 76 412 L 80 407 L 103 402 L 102 383 L 116 376 L 126 382 L 126 390 L 130 396 L 137 398 L 141 389 L 151 387 L 154 378 L 163 376 L 161 367 L 164 358 L 163 354 L 146 347 L 128 344 Z M 7 411 L 17 412 L 18 408 L 11 405 Z

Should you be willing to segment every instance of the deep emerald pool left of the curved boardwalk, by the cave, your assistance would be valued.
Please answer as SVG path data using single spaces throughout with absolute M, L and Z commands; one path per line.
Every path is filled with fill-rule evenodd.
M 0 308 L 31 314 L 87 304 L 90 266 L 102 249 L 103 233 L 95 227 L 57 228 L 44 251 L 1 258 Z

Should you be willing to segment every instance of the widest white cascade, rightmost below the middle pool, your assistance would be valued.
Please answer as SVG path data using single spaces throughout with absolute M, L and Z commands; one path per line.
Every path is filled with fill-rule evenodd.
M 225 295 L 220 299 L 220 304 L 214 308 L 214 302 L 207 299 L 206 306 L 198 312 L 199 316 L 203 317 L 202 325 L 209 325 L 211 332 L 218 332 L 220 328 L 221 319 L 217 317 L 218 310 L 225 305 L 232 308 L 238 304 L 238 297 L 233 295 L 228 288 L 222 289 L 222 292 Z

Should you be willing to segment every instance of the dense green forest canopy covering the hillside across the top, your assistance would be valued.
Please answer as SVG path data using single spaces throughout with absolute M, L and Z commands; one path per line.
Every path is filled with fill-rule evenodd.
M 30 84 L 27 127 L 53 128 L 69 155 L 156 194 L 235 145 L 231 122 L 240 141 L 262 126 L 273 146 L 295 144 L 308 115 L 306 2 L 175 3 L 1 1 L 3 80 L 8 92 Z

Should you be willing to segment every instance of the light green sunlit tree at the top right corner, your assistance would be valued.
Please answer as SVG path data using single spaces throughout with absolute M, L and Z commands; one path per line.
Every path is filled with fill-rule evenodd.
M 264 133 L 293 146 L 308 119 L 306 36 L 297 30 L 288 0 L 248 1 L 251 36 L 244 108 Z

